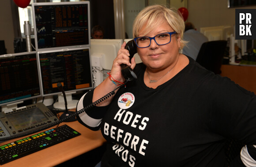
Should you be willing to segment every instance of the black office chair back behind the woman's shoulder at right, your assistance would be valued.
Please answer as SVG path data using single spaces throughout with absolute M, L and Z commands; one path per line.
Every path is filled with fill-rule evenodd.
M 227 46 L 227 41 L 208 41 L 202 44 L 196 62 L 215 74 L 221 74 L 220 67 Z

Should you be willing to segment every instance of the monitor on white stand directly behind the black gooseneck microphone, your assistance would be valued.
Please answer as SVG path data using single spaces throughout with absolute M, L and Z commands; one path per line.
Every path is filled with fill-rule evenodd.
M 78 100 L 72 93 L 92 89 L 90 48 L 72 48 L 38 52 L 42 96 L 58 95 L 54 108 L 65 109 L 61 83 L 67 97 L 68 109 L 76 108 Z

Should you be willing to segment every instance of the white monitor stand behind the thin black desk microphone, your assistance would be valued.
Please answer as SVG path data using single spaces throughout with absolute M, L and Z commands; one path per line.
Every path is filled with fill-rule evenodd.
M 67 98 L 67 104 L 68 104 L 68 109 L 73 109 L 76 108 L 76 104 L 78 103 L 78 100 L 73 100 L 72 99 L 72 94 L 76 92 L 71 92 L 71 93 L 66 93 L 66 98 Z M 53 104 L 54 108 L 57 109 L 62 109 L 65 110 L 65 100 L 63 94 L 58 94 L 58 102 Z

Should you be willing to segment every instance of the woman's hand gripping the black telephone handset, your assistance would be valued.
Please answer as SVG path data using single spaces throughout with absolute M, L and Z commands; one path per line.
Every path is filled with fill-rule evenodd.
M 121 66 L 120 65 L 121 64 L 126 64 L 126 65 L 130 66 L 132 69 L 136 65 L 134 57 L 131 59 L 131 63 L 130 63 L 130 57 L 129 57 L 130 54 L 129 54 L 129 51 L 124 48 L 125 45 L 126 45 L 125 42 L 121 45 L 121 48 L 117 53 L 117 57 L 113 61 L 112 69 L 111 69 L 111 72 L 110 72 L 112 77 L 115 80 L 119 81 L 119 82 L 124 82 L 125 81 L 125 79 L 124 79 L 124 77 L 122 76 L 122 73 L 121 73 Z

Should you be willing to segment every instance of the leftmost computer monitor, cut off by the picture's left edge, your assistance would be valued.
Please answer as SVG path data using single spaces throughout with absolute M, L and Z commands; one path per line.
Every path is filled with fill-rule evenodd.
M 36 52 L 0 55 L 0 106 L 2 111 L 17 108 L 41 96 Z

